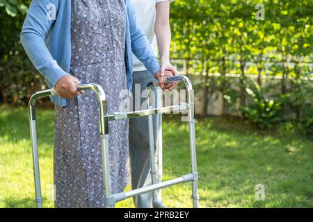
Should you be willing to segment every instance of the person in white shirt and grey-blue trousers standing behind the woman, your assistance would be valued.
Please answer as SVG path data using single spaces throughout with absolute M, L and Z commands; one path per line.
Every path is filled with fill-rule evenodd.
M 137 22 L 147 35 L 154 54 L 158 54 L 161 60 L 161 71 L 170 70 L 178 75 L 177 70 L 170 63 L 170 0 L 131 0 L 136 11 Z M 172 0 L 171 0 L 172 1 Z M 158 47 L 159 46 L 159 47 Z M 143 94 L 148 83 L 153 81 L 153 74 L 145 68 L 136 56 L 134 58 L 133 73 L 133 97 L 145 103 L 145 97 L 138 98 Z M 175 84 L 172 85 L 175 87 Z M 136 92 L 140 89 L 140 94 Z M 137 97 L 136 97 L 137 96 Z M 141 107 L 139 107 L 140 110 Z M 162 116 L 155 114 L 152 117 L 154 132 L 154 152 L 157 164 L 157 182 L 162 181 Z M 131 166 L 132 189 L 146 187 L 152 184 L 150 176 L 150 139 L 148 129 L 148 117 L 129 119 L 129 152 Z M 161 200 L 161 190 L 157 191 L 157 199 Z M 134 204 L 139 208 L 151 208 L 152 192 L 134 196 Z

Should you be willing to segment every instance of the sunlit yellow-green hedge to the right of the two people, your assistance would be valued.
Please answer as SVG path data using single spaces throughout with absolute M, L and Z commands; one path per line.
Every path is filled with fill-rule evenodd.
M 255 17 L 257 3 L 264 5 L 264 20 Z M 204 86 L 214 88 L 201 89 L 204 94 L 220 92 L 237 111 L 244 106 L 248 112 L 246 82 L 248 75 L 255 75 L 260 90 L 269 94 L 268 102 L 260 99 L 259 108 L 284 97 L 283 115 L 275 121 L 289 116 L 302 122 L 307 119 L 304 107 L 310 103 L 307 89 L 313 87 L 312 11 L 312 1 L 177 0 L 171 10 L 172 59 L 185 61 L 187 74 L 219 74 L 214 85 L 211 78 L 203 78 Z M 239 83 L 231 82 L 227 74 L 238 74 Z M 280 78 L 280 84 L 263 85 L 264 77 Z M 235 105 L 238 101 L 240 105 Z M 229 110 L 223 104 L 223 114 Z M 253 115 L 250 120 L 260 121 Z

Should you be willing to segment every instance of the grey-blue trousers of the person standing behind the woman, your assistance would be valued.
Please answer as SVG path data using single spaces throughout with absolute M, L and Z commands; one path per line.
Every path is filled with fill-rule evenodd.
M 148 83 L 156 81 L 149 71 L 134 71 L 133 73 L 133 105 L 138 105 L 146 101 L 146 94 L 142 92 Z M 142 94 L 142 95 L 141 95 Z M 143 97 L 143 98 L 141 98 Z M 137 100 L 137 103 L 136 103 Z M 147 107 L 142 108 L 146 109 Z M 157 164 L 157 182 L 161 182 L 162 176 L 162 119 L 161 114 L 153 115 L 154 131 L 154 152 Z M 131 167 L 131 187 L 138 189 L 151 185 L 150 174 L 150 151 L 148 117 L 137 117 L 129 119 L 129 153 Z M 161 190 L 157 192 L 158 199 L 161 200 Z M 134 197 L 134 204 L 138 208 L 152 208 L 152 192 Z

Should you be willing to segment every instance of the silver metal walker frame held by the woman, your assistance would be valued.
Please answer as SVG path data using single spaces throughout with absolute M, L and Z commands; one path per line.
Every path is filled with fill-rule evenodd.
M 192 196 L 193 207 L 198 208 L 198 172 L 197 172 L 197 161 L 196 161 L 196 151 L 195 151 L 195 107 L 194 107 L 194 94 L 191 81 L 186 76 L 173 76 L 170 78 L 165 78 L 165 83 L 176 83 L 183 81 L 186 86 L 186 103 L 180 103 L 178 105 L 172 105 L 162 108 L 153 108 L 149 101 L 151 99 L 152 87 L 157 86 L 155 83 L 149 83 L 147 85 L 147 110 L 139 110 L 134 112 L 114 112 L 108 114 L 106 112 L 106 96 L 102 87 L 97 84 L 81 84 L 79 89 L 92 89 L 95 94 L 97 94 L 97 99 L 99 101 L 99 131 L 102 146 L 102 166 L 103 166 L 103 178 L 104 178 L 104 206 L 114 207 L 115 203 L 120 200 L 125 200 L 133 196 L 138 196 L 140 194 L 145 194 L 147 192 L 153 192 L 153 205 L 154 207 L 165 207 L 160 200 L 157 199 L 157 190 L 170 187 L 172 185 L 177 185 L 182 182 L 192 182 Z M 38 142 L 36 135 L 36 117 L 35 117 L 35 103 L 38 99 L 56 95 L 54 88 L 43 90 L 40 92 L 35 92 L 29 101 L 29 123 L 31 130 L 31 146 L 33 154 L 33 173 L 35 179 L 35 203 L 38 208 L 42 208 L 42 192 L 40 185 L 40 167 L 38 158 Z M 188 113 L 188 125 L 189 125 L 189 144 L 190 144 L 190 157 L 191 157 L 191 173 L 174 178 L 171 180 L 166 180 L 157 183 L 156 178 L 156 166 L 154 160 L 154 135 L 153 135 L 153 114 L 163 114 L 171 111 L 175 112 L 186 112 Z M 147 187 L 141 187 L 131 191 L 120 192 L 118 194 L 111 193 L 111 176 L 110 176 L 110 161 L 109 161 L 109 121 L 115 121 L 119 119 L 129 119 L 134 117 L 145 117 L 148 116 L 149 124 L 149 136 L 150 136 L 150 166 L 151 166 L 151 176 L 152 185 Z

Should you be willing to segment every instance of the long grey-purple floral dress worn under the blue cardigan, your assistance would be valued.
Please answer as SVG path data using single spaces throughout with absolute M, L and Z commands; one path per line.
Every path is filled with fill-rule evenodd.
M 106 93 L 108 112 L 118 112 L 127 89 L 126 8 L 123 0 L 72 1 L 70 73 L 81 83 L 97 83 Z M 55 207 L 103 207 L 103 173 L 95 93 L 67 99 L 55 108 Z M 109 123 L 112 193 L 127 185 L 128 121 Z

